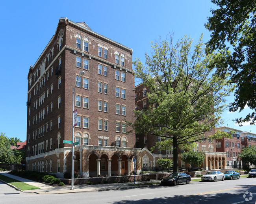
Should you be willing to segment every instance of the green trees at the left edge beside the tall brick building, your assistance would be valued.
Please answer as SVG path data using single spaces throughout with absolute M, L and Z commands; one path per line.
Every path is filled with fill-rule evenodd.
M 11 143 L 4 133 L 0 133 L 0 163 L 20 163 L 22 156 L 14 155 L 11 150 Z

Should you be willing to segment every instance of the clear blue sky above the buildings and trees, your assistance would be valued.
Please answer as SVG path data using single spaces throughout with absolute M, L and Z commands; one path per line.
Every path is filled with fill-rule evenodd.
M 133 49 L 133 61 L 145 62 L 150 42 L 174 33 L 175 39 L 190 35 L 195 42 L 210 32 L 204 24 L 211 17 L 210 0 L 45 0 L 4 1 L 0 19 L 0 132 L 26 140 L 28 71 L 54 35 L 59 18 L 85 22 L 95 32 Z M 228 98 L 232 102 L 234 96 Z M 239 127 L 233 121 L 250 113 L 222 114 L 223 125 L 256 133 L 256 126 Z

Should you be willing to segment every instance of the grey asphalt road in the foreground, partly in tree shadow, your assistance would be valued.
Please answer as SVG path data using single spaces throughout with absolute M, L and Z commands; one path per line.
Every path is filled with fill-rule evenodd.
M 7 186 L 7 185 L 6 185 Z M 19 193 L 0 183 L 0 203 L 13 204 L 256 204 L 256 178 L 218 182 L 191 182 L 189 185 L 156 186 L 137 189 L 36 195 Z M 19 194 L 16 194 L 19 193 Z

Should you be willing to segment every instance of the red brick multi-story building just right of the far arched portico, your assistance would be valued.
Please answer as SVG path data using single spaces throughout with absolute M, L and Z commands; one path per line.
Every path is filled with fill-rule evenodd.
M 226 166 L 228 168 L 241 168 L 241 159 L 239 158 L 239 154 L 241 153 L 241 139 L 240 135 L 242 133 L 241 130 L 237 130 L 234 128 L 221 126 L 215 128 L 215 131 L 227 132 L 230 131 L 235 132 L 232 135 L 232 138 L 222 138 L 217 139 L 216 141 L 216 150 L 217 152 L 226 152 Z

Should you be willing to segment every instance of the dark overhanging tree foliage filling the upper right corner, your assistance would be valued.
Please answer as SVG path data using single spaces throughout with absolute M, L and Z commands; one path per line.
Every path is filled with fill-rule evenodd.
M 225 50 L 229 57 L 216 61 L 217 74 L 225 77 L 229 72 L 236 83 L 235 101 L 230 111 L 241 111 L 247 104 L 254 109 L 244 119 L 236 121 L 255 123 L 256 114 L 256 1 L 255 0 L 211 0 L 219 6 L 212 9 L 206 28 L 211 39 L 206 43 L 208 52 Z M 232 49 L 230 49 L 230 47 Z M 251 121 L 252 119 L 252 121 Z

